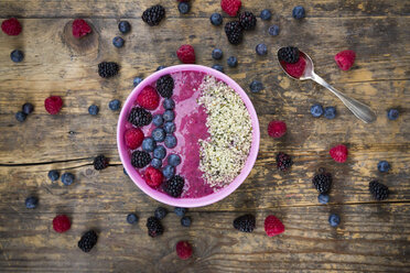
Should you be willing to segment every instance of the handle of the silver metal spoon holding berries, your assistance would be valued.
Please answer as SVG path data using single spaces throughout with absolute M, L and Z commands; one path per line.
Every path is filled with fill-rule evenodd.
M 370 107 L 366 106 L 365 103 L 362 103 L 360 101 L 347 97 L 343 92 L 336 90 L 333 86 L 326 83 L 321 76 L 316 74 L 312 74 L 311 77 L 314 81 L 322 85 L 323 87 L 326 87 L 330 91 L 332 91 L 334 95 L 336 95 L 337 98 L 342 100 L 342 102 L 362 121 L 366 123 L 374 122 L 377 117 L 374 110 L 371 110 Z

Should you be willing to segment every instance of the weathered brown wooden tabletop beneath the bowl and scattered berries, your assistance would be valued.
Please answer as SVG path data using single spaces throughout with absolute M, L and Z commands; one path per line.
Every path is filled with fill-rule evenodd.
M 219 1 L 193 1 L 181 15 L 176 1 L 157 1 L 166 8 L 160 26 L 149 28 L 140 15 L 151 1 L 2 0 L 0 18 L 19 18 L 19 36 L 0 34 L 0 271 L 1 272 L 410 272 L 410 6 L 401 0 L 250 1 L 246 10 L 256 14 L 273 11 L 270 22 L 258 20 L 239 46 L 227 43 L 223 26 L 211 25 L 209 15 L 220 12 Z M 155 2 L 155 3 L 157 3 Z M 295 21 L 292 7 L 303 4 L 308 18 Z M 69 34 L 74 18 L 84 18 L 94 33 L 75 41 Z M 123 35 L 126 45 L 111 44 L 119 20 L 132 24 Z M 224 18 L 227 22 L 229 19 Z M 268 34 L 279 24 L 279 36 Z M 160 204 L 144 195 L 123 173 L 116 146 L 118 112 L 108 109 L 111 99 L 125 101 L 136 76 L 147 77 L 159 65 L 180 64 L 175 51 L 192 44 L 197 64 L 220 63 L 227 75 L 247 90 L 259 114 L 261 145 L 255 168 L 229 197 L 212 206 L 190 210 L 191 228 L 183 228 L 170 214 L 161 238 L 147 236 L 145 219 Z M 257 56 L 255 47 L 266 43 L 269 53 Z M 373 124 L 358 121 L 334 96 L 311 81 L 295 81 L 281 72 L 274 55 L 283 45 L 296 45 L 315 62 L 317 74 L 336 88 L 378 111 Z M 212 59 L 215 47 L 224 61 Z M 20 48 L 25 58 L 10 61 Z M 342 72 L 333 56 L 350 48 L 357 61 Z M 238 57 L 229 68 L 226 58 Z M 97 64 L 114 61 L 119 76 L 102 79 Z M 265 90 L 249 91 L 251 80 Z M 60 114 L 44 110 L 44 99 L 62 96 Z M 14 113 L 24 102 L 35 106 L 23 123 Z M 315 119 L 310 107 L 336 106 L 337 118 Z M 91 117 L 89 105 L 100 107 Z M 389 121 L 386 110 L 398 107 L 401 116 Z M 267 134 L 272 119 L 288 123 L 288 134 L 273 140 Z M 348 161 L 335 163 L 328 155 L 334 144 L 349 148 Z M 279 173 L 274 155 L 293 156 L 289 173 Z M 93 168 L 94 156 L 110 157 L 101 172 Z M 388 174 L 377 171 L 387 160 Z M 331 203 L 320 205 L 312 176 L 319 167 L 334 175 Z M 72 172 L 76 182 L 51 183 L 50 170 Z M 391 195 L 376 203 L 368 183 L 379 179 Z M 40 206 L 29 210 L 24 199 L 37 195 Z M 169 208 L 172 210 L 173 208 Z M 137 211 L 136 226 L 126 222 Z M 241 233 L 233 219 L 245 212 L 257 217 L 257 229 Z M 330 227 L 331 212 L 342 223 Z M 66 214 L 73 226 L 56 233 L 52 219 Z M 263 219 L 273 214 L 285 232 L 268 238 Z M 77 248 L 83 232 L 99 231 L 97 247 L 88 254 Z M 188 240 L 194 258 L 179 260 L 174 245 Z

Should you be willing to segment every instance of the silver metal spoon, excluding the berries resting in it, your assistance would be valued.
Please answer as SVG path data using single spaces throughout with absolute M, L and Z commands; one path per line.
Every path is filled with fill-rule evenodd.
M 358 100 L 356 100 L 354 98 L 347 97 L 346 95 L 344 95 L 341 91 L 337 91 L 333 86 L 331 86 L 330 84 L 327 84 L 322 77 L 317 76 L 314 73 L 313 62 L 312 62 L 311 57 L 308 54 L 305 54 L 305 53 L 303 53 L 303 52 L 300 51 L 300 56 L 303 57 L 306 61 L 306 68 L 304 69 L 304 73 L 303 73 L 303 75 L 300 78 L 295 78 L 295 77 L 289 75 L 288 72 L 284 69 L 284 67 L 282 66 L 282 64 L 279 62 L 279 58 L 278 58 L 278 62 L 280 64 L 280 67 L 282 67 L 283 72 L 289 77 L 291 77 L 293 79 L 300 79 L 300 80 L 312 79 L 312 80 L 316 81 L 317 84 L 322 85 L 323 87 L 326 87 L 330 91 L 332 91 L 334 95 L 336 95 L 336 97 L 339 98 L 342 100 L 342 102 L 359 120 L 362 120 L 362 121 L 364 121 L 366 123 L 374 122 L 377 119 L 375 111 L 371 110 L 370 107 L 362 103 L 360 101 L 358 101 Z

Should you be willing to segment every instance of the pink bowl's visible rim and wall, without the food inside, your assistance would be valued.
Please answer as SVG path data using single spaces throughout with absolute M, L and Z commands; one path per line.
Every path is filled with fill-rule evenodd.
M 164 76 L 166 74 L 172 74 L 176 72 L 199 72 L 205 73 L 207 75 L 212 75 L 217 79 L 223 80 L 228 86 L 230 86 L 244 100 L 250 118 L 251 118 L 251 124 L 252 124 L 252 144 L 250 148 L 250 152 L 248 155 L 248 159 L 245 163 L 245 166 L 240 174 L 225 188 L 218 190 L 217 193 L 199 197 L 199 198 L 173 198 L 166 194 L 160 193 L 150 186 L 147 185 L 144 179 L 141 177 L 141 175 L 133 168 L 131 165 L 131 161 L 127 151 L 127 146 L 125 144 L 123 140 L 123 133 L 126 129 L 126 122 L 127 122 L 127 116 L 132 108 L 133 101 L 137 99 L 138 94 L 143 89 L 144 86 L 155 81 L 161 76 Z M 159 200 L 161 203 L 175 206 L 175 207 L 202 207 L 206 206 L 213 203 L 216 203 L 218 200 L 224 199 L 228 195 L 230 195 L 236 188 L 239 187 L 239 185 L 246 179 L 246 177 L 249 175 L 250 171 L 253 167 L 255 161 L 258 156 L 258 150 L 259 150 L 259 139 L 260 139 L 260 132 L 259 132 L 259 121 L 257 113 L 255 111 L 253 105 L 250 101 L 249 97 L 246 95 L 246 92 L 242 90 L 242 88 L 235 83 L 231 78 L 226 76 L 225 74 L 206 67 L 202 65 L 175 65 L 171 67 L 166 67 L 162 70 L 155 72 L 149 77 L 147 77 L 141 84 L 139 84 L 132 92 L 128 96 L 126 103 L 122 106 L 121 113 L 118 119 L 118 127 L 117 127 L 117 145 L 118 145 L 118 152 L 122 162 L 123 167 L 126 168 L 128 175 L 131 177 L 133 183 L 145 194 L 154 198 L 155 200 Z

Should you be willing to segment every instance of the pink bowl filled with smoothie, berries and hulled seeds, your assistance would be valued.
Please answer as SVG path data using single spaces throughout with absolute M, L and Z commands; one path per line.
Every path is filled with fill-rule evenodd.
M 136 185 L 177 207 L 231 194 L 253 167 L 259 122 L 231 78 L 199 65 L 159 70 L 130 94 L 117 128 L 121 162 Z

